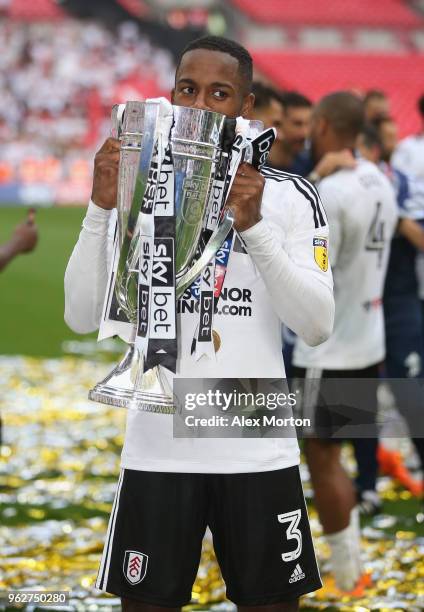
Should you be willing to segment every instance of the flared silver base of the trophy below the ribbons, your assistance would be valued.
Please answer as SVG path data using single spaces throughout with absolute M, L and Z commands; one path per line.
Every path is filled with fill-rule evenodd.
M 159 367 L 144 374 L 142 355 L 130 345 L 122 361 L 88 394 L 93 402 L 118 408 L 174 414 L 172 390 Z

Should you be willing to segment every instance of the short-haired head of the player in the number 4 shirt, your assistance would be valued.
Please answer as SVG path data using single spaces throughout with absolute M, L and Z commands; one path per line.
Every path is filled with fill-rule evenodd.
M 356 138 L 365 122 L 362 100 L 349 91 L 337 91 L 324 96 L 316 106 L 333 130 L 344 138 Z

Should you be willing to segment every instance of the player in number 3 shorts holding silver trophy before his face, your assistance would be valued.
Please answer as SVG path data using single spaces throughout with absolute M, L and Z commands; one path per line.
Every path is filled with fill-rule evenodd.
M 247 116 L 251 83 L 248 52 L 205 37 L 183 52 L 172 102 Z M 81 333 L 99 325 L 118 160 L 119 143 L 108 139 L 66 271 L 65 319 Z M 265 180 L 249 164 L 240 166 L 228 205 L 245 248 L 236 241 L 214 318 L 221 346 L 216 361 L 190 356 L 197 315 L 187 291 L 178 304 L 177 376 L 282 378 L 281 321 L 309 344 L 331 333 L 332 276 L 313 255 L 315 237 L 328 240 L 325 213 L 307 181 Z M 190 601 L 208 525 L 227 596 L 239 608 L 297 610 L 298 597 L 321 584 L 298 463 L 294 438 L 174 439 L 171 416 L 129 411 L 98 588 L 120 596 L 124 611 L 180 608 Z

